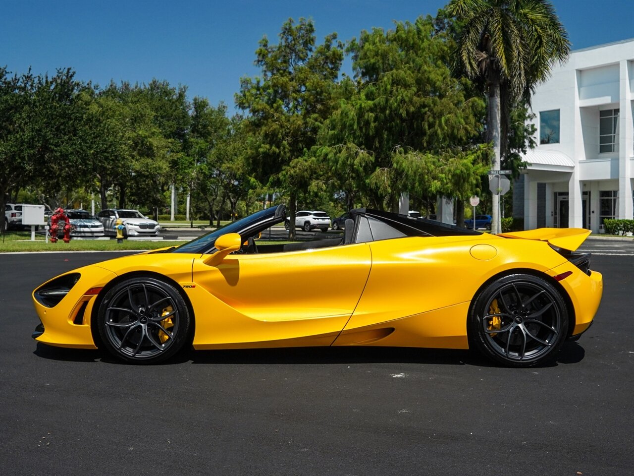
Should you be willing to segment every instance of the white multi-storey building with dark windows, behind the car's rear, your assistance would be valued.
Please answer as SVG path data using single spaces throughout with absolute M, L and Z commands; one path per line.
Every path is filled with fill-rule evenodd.
M 633 218 L 634 39 L 573 51 L 532 99 L 538 146 L 514 190 L 524 228 Z M 523 198 L 523 200 L 522 200 Z

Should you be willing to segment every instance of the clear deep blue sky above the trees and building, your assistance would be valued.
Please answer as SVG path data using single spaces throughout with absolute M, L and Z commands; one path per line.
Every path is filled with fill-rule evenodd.
M 435 15 L 444 0 L 28 1 L 0 6 L 0 65 L 11 72 L 188 86 L 188 95 L 233 109 L 240 77 L 256 76 L 257 42 L 272 43 L 289 17 L 312 18 L 318 39 L 346 41 L 393 20 Z M 573 49 L 634 37 L 634 0 L 554 0 Z M 349 60 L 344 68 L 350 68 Z

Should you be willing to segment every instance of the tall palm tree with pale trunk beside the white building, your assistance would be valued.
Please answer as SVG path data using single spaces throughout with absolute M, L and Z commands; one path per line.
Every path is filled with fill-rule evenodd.
M 489 93 L 487 129 L 493 142 L 491 168 L 500 170 L 502 131 L 511 103 L 530 103 L 536 86 L 565 62 L 570 42 L 548 0 L 451 0 L 448 13 L 462 24 L 456 61 L 470 78 L 481 78 Z M 500 233 L 500 195 L 493 195 L 491 230 Z

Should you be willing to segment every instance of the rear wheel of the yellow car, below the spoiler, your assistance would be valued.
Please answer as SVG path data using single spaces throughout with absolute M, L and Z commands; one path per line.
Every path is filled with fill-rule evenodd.
M 508 367 L 546 364 L 568 332 L 564 298 L 550 282 L 529 274 L 496 279 L 475 298 L 469 338 L 482 354 Z

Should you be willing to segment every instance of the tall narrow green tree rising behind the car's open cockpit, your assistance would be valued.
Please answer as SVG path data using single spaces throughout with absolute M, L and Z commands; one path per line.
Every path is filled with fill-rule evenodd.
M 266 187 L 287 187 L 290 220 L 294 221 L 297 190 L 283 182 L 289 174 L 281 172 L 316 143 L 321 123 L 332 110 L 343 45 L 333 33 L 316 46 L 313 22 L 305 18 L 297 25 L 292 19 L 285 22 L 279 38 L 273 45 L 266 37 L 261 39 L 256 65 L 262 76 L 240 80 L 236 103 L 249 112 L 254 137 L 249 167 Z M 289 237 L 295 237 L 294 227 Z

